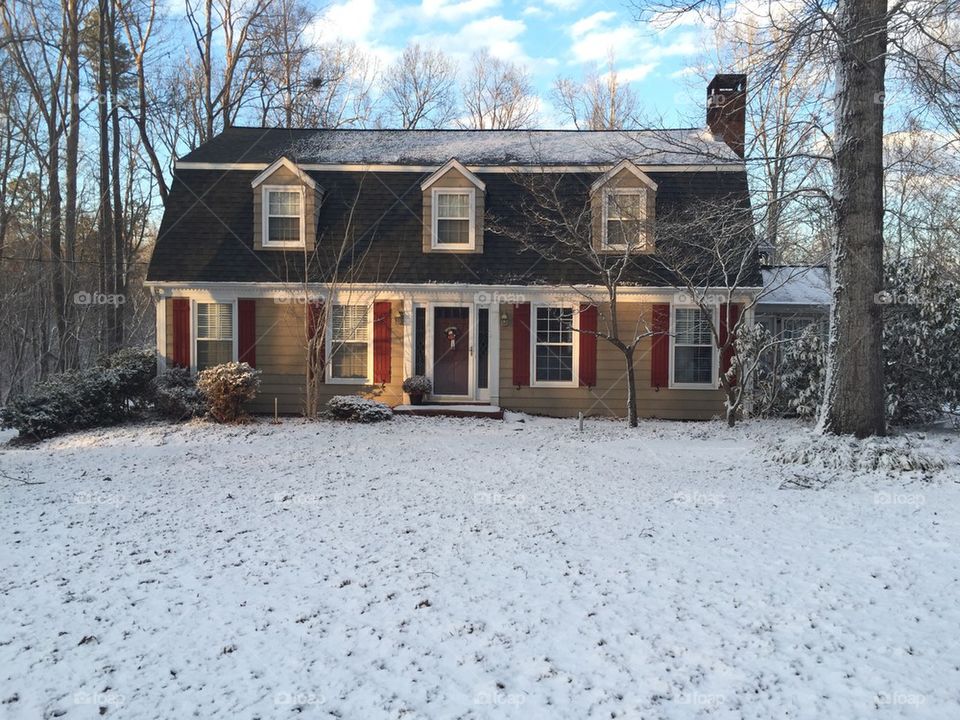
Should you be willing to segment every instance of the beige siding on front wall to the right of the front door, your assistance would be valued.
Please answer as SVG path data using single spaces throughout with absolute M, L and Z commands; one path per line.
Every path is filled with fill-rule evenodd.
M 643 329 L 652 323 L 652 305 L 622 304 L 619 325 L 623 336 L 629 337 L 638 326 Z M 627 383 L 623 354 L 605 340 L 597 339 L 596 387 L 535 388 L 513 385 L 513 322 L 512 306 L 501 306 L 511 315 L 511 323 L 500 331 L 500 405 L 558 417 L 587 416 L 622 417 L 626 414 Z M 606 309 L 600 308 L 601 315 Z M 532 321 L 532 318 L 531 318 Z M 600 321 L 601 326 L 603 318 Z M 709 419 L 723 412 L 723 393 L 720 390 L 659 391 L 650 386 L 650 338 L 640 341 L 634 359 L 637 386 L 637 411 L 641 417 L 659 417 L 677 420 Z M 531 348 L 531 352 L 533 349 Z

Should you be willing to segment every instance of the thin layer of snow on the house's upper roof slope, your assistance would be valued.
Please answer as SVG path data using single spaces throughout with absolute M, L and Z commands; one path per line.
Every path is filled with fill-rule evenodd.
M 443 165 L 742 164 L 726 143 L 698 128 L 570 130 L 318 130 L 290 148 L 299 163 Z

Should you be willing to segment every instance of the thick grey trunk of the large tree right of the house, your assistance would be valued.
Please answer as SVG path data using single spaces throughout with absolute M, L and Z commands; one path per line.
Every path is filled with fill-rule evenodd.
M 885 0 L 840 0 L 833 303 L 820 429 L 883 435 L 883 83 Z

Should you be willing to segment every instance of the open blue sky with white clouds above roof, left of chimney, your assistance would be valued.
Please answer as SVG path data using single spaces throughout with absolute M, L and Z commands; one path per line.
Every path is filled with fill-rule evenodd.
M 558 74 L 580 77 L 612 52 L 622 77 L 641 97 L 645 115 L 668 125 L 703 124 L 703 81 L 694 73 L 703 36 L 692 25 L 654 30 L 639 24 L 625 3 L 541 0 L 338 0 L 317 32 L 357 43 L 389 63 L 407 42 L 439 48 L 464 66 L 481 47 L 522 63 L 546 98 Z M 541 108 L 540 125 L 561 117 Z

